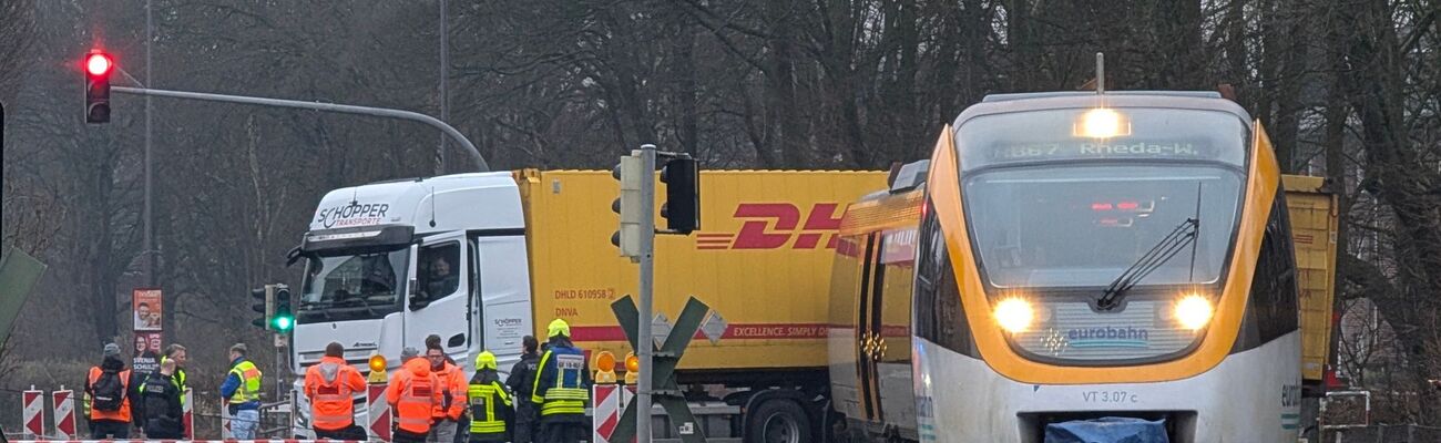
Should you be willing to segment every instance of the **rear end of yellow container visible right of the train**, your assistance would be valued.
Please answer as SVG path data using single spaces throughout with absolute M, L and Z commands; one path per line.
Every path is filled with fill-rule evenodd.
M 1331 305 L 1336 298 L 1336 194 L 1321 177 L 1284 175 L 1291 217 L 1297 285 L 1301 291 L 1301 378 L 1320 383 L 1331 350 Z

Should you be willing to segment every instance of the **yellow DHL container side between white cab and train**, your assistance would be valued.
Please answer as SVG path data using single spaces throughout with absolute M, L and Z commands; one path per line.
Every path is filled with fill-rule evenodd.
M 618 181 L 610 171 L 537 170 L 517 171 L 516 181 L 536 337 L 543 341 L 546 324 L 561 318 L 582 350 L 625 355 L 630 344 L 610 305 L 638 299 L 638 268 L 610 242 Z M 824 368 L 840 217 L 885 186 L 882 171 L 702 171 L 700 229 L 656 236 L 654 312 L 673 322 L 695 295 L 726 328 L 715 344 L 697 334 L 680 370 Z M 659 181 L 656 200 L 664 200 Z

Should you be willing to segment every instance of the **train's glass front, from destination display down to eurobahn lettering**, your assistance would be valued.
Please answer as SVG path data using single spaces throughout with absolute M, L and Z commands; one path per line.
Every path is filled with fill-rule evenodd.
M 987 295 L 1030 305 L 1033 322 L 1009 338 L 1035 360 L 1185 355 L 1203 328 L 1176 318 L 1174 305 L 1185 295 L 1218 299 L 1248 128 L 1225 112 L 1121 108 L 1095 137 L 1088 112 L 997 114 L 958 128 L 961 194 Z M 1098 308 L 1125 275 L 1134 288 L 1124 302 Z

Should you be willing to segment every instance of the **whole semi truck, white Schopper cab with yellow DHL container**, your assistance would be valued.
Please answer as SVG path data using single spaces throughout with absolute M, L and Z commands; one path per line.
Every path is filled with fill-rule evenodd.
M 837 250 L 844 249 L 842 220 L 862 197 L 898 188 L 896 175 L 912 180 L 899 188 L 924 178 L 703 171 L 702 229 L 657 236 L 653 324 L 663 332 L 667 316 L 690 296 L 723 322 L 720 332 L 697 335 L 676 373 L 712 440 L 824 442 L 844 424 L 847 434 L 915 439 L 914 431 L 847 417 L 856 400 L 833 393 L 863 391 L 863 381 L 831 380 L 831 348 L 856 347 L 829 337 L 836 328 L 833 263 L 846 253 Z M 1300 269 L 1303 380 L 1314 387 L 1330 354 L 1334 201 L 1320 178 L 1288 175 L 1284 187 Z M 555 318 L 571 324 L 572 339 L 591 355 L 631 352 L 610 306 L 638 288 L 635 265 L 610 242 L 618 226 L 611 211 L 617 191 L 610 171 L 520 170 L 327 193 L 295 255 L 305 270 L 291 370 L 303 374 L 331 341 L 365 373 L 373 358 L 395 370 L 403 348 L 422 348 L 428 335 L 438 335 L 465 371 L 484 350 L 507 371 L 520 357 L 522 338 L 543 341 Z M 308 404 L 298 384 L 295 390 L 294 433 L 305 437 Z M 356 407 L 363 417 L 363 397 Z M 656 420 L 659 439 L 674 436 L 661 416 Z

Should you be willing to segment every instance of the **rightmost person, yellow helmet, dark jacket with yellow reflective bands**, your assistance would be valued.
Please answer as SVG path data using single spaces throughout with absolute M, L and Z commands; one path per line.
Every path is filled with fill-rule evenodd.
M 546 328 L 549 348 L 540 355 L 530 401 L 540 406 L 540 442 L 586 440 L 585 404 L 591 401 L 591 371 L 585 352 L 571 344 L 571 325 L 555 319 Z

